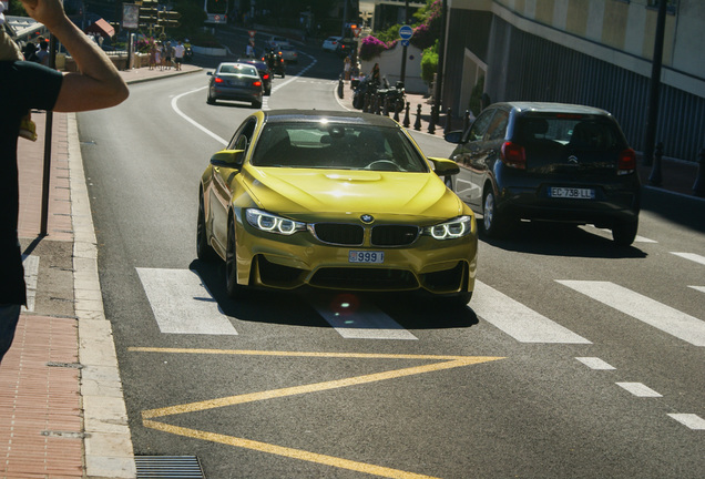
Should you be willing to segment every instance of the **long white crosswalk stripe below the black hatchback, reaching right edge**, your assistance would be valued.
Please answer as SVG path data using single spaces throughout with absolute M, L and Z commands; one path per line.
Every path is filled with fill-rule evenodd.
M 694 346 L 705 346 L 705 322 L 610 282 L 558 281 Z

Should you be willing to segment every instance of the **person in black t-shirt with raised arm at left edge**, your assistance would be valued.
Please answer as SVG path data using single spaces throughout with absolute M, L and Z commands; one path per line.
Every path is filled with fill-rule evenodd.
M 76 72 L 61 73 L 18 60 L 19 47 L 0 24 L 0 361 L 10 348 L 27 304 L 22 252 L 18 238 L 17 143 L 21 119 L 31 109 L 75 112 L 116 105 L 129 95 L 120 72 L 63 11 L 60 0 L 20 0 L 75 61 Z M 3 4 L 0 2 L 0 23 Z

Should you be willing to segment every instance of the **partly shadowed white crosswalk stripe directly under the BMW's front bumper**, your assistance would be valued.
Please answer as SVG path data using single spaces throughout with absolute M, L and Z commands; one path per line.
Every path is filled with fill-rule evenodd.
M 374 305 L 354 295 L 314 300 L 318 314 L 346 339 L 417 339 Z

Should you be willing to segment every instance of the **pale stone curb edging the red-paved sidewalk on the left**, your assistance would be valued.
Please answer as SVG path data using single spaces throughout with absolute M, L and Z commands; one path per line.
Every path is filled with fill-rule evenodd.
M 80 390 L 83 406 L 85 477 L 136 478 L 127 410 L 115 355 L 112 326 L 105 318 L 98 275 L 93 228 L 75 114 L 68 115 L 73 289 L 79 324 Z

